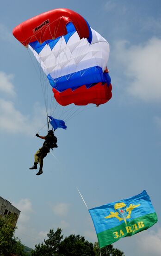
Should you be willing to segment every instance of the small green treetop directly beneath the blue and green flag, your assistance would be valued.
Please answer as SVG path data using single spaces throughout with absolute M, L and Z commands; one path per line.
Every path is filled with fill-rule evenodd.
M 100 256 L 99 244 L 97 242 L 94 243 L 93 251 L 95 256 Z M 113 248 L 111 244 L 101 248 L 101 256 L 124 256 L 124 252 Z

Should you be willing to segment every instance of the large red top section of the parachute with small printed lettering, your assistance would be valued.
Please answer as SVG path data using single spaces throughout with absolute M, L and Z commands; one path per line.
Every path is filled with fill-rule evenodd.
M 72 22 L 80 38 L 88 38 L 89 30 L 86 20 L 69 9 L 54 9 L 24 21 L 13 29 L 13 35 L 24 46 L 29 43 L 55 39 L 67 34 L 66 25 Z

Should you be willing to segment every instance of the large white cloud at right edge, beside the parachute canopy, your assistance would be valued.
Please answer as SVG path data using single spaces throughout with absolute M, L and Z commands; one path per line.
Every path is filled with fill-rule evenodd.
M 152 38 L 144 45 L 130 46 L 119 41 L 115 48 L 117 65 L 126 75 L 127 92 L 147 102 L 161 100 L 161 40 Z

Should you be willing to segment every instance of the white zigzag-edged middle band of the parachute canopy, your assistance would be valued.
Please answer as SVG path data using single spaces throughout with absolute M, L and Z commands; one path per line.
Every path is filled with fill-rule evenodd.
M 46 44 L 40 53 L 37 53 L 30 45 L 29 48 L 44 73 L 50 74 L 53 79 L 96 66 L 101 67 L 103 73 L 109 58 L 109 43 L 92 28 L 91 31 L 91 43 L 87 38 L 80 39 L 75 30 L 67 43 L 62 36 L 53 49 L 49 44 Z

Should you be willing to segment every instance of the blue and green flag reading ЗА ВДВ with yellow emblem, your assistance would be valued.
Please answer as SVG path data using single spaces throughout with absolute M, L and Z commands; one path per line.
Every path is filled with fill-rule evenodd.
M 89 209 L 89 213 L 100 248 L 115 243 L 122 237 L 149 229 L 158 221 L 145 190 L 128 199 Z

